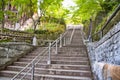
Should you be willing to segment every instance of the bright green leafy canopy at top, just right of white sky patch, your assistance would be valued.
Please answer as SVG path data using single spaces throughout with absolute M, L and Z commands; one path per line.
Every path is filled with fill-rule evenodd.
M 74 17 L 81 19 L 81 22 L 89 20 L 90 18 L 94 19 L 97 12 L 102 8 L 100 6 L 100 0 L 75 0 L 77 4 L 77 9 L 74 11 Z

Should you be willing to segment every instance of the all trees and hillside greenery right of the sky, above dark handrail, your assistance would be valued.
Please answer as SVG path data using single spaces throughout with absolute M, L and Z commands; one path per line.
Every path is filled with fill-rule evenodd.
M 73 7 L 73 12 L 70 22 L 83 23 L 84 31 L 88 34 L 90 19 L 92 19 L 92 34 L 99 31 L 106 23 L 108 18 L 114 12 L 115 8 L 119 5 L 120 0 L 74 0 L 77 6 Z M 116 20 L 118 22 L 119 20 Z M 113 21 L 116 23 L 115 21 Z M 112 22 L 111 22 L 112 23 Z M 110 23 L 110 24 L 111 24 Z M 111 26 L 113 26 L 113 24 Z M 111 27 L 107 27 L 105 33 Z M 98 39 L 98 36 L 96 36 Z

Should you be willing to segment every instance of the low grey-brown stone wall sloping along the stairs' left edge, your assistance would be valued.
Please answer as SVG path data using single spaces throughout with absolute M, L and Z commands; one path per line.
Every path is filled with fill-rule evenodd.
M 4 69 L 7 65 L 13 63 L 33 49 L 34 47 L 32 45 L 23 42 L 0 44 L 0 69 Z

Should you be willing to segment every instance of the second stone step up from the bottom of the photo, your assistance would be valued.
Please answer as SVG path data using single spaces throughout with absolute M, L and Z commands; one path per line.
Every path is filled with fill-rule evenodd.
M 7 70 L 9 71 L 17 71 L 19 72 L 24 67 L 20 66 L 9 66 Z M 27 72 L 31 67 L 24 70 Z M 52 68 L 35 68 L 35 73 L 37 74 L 52 74 L 52 75 L 67 75 L 67 76 L 84 76 L 84 77 L 91 77 L 90 71 L 84 70 L 66 70 L 66 69 L 52 69 Z

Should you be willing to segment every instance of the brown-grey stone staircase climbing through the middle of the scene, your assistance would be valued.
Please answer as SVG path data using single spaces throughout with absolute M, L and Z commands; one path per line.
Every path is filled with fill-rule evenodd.
M 7 66 L 5 70 L 0 71 L 0 80 L 10 80 L 43 49 L 43 47 L 37 48 L 32 53 Z M 86 47 L 83 44 L 79 29 L 75 30 L 71 44 L 59 48 L 58 54 L 51 54 L 51 64 L 47 64 L 47 58 L 46 54 L 35 66 L 34 80 L 93 80 Z M 25 72 L 26 70 L 21 75 Z M 24 80 L 30 80 L 30 76 L 30 73 L 27 74 Z

